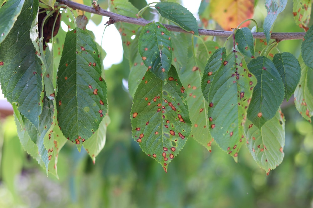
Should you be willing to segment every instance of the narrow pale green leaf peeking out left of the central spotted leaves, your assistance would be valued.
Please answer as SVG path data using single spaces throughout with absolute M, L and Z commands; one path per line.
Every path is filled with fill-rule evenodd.
M 134 97 L 136 89 L 146 74 L 147 67 L 143 63 L 139 53 L 137 53 L 134 64 L 131 66 L 131 71 L 128 76 L 128 91 L 131 97 Z

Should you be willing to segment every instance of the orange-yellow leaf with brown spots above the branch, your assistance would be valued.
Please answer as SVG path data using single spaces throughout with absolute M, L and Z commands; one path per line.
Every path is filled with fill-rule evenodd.
M 250 19 L 254 12 L 254 0 L 211 0 L 211 17 L 224 29 L 236 28 L 241 22 Z M 247 27 L 250 21 L 241 27 Z

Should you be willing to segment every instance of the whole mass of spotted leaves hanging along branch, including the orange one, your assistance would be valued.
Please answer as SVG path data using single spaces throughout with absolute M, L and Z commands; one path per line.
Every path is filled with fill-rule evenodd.
M 85 29 L 90 14 L 74 11 L 76 21 L 69 21 L 72 11 L 56 1 L 3 2 L 0 12 L 9 15 L 0 22 L 0 82 L 13 105 L 24 149 L 47 173 L 57 173 L 58 152 L 67 139 L 79 150 L 83 146 L 95 161 L 105 144 L 109 117 L 103 52 L 93 33 Z M 214 20 L 227 30 L 251 18 L 254 3 L 203 1 L 200 19 L 205 28 Z M 248 27 L 234 29 L 226 40 L 232 37 L 231 49 L 200 37 L 196 18 L 175 2 L 151 6 L 160 14 L 159 22 L 144 27 L 115 23 L 131 69 L 133 138 L 165 172 L 188 138 L 208 151 L 214 141 L 235 161 L 246 143 L 267 173 L 282 162 L 283 100 L 295 94 L 300 114 L 309 121 L 313 114 L 308 81 L 313 68 L 313 27 L 307 28 L 310 1 L 294 0 L 296 23 L 308 30 L 299 61 L 289 52 L 271 53 L 278 42 L 270 40 L 272 29 L 286 3 L 267 0 L 265 39 L 254 39 Z M 236 9 L 225 5 L 244 12 L 234 13 Z M 93 6 L 100 9 L 95 1 Z M 109 9 L 127 17 L 142 13 L 128 0 L 111 0 Z M 206 11 L 211 11 L 210 16 Z M 59 28 L 60 22 L 69 31 Z M 168 31 L 162 25 L 168 22 L 186 33 Z M 248 25 L 244 22 L 242 26 Z M 46 45 L 50 38 L 52 45 Z

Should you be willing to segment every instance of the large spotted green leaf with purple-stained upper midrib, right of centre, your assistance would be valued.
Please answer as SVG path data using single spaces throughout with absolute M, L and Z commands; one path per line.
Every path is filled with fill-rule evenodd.
M 209 91 L 208 117 L 211 135 L 235 161 L 244 142 L 243 125 L 256 83 L 244 56 L 232 51 L 216 72 Z

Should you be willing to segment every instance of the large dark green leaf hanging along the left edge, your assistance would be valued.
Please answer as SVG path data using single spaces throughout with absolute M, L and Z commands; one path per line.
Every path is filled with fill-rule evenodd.
M 38 3 L 38 1 L 37 1 Z M 0 46 L 0 82 L 8 101 L 38 129 L 41 114 L 41 61 L 29 36 L 34 13 L 33 1 L 26 1 L 12 30 Z

